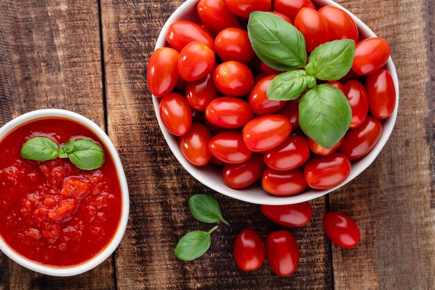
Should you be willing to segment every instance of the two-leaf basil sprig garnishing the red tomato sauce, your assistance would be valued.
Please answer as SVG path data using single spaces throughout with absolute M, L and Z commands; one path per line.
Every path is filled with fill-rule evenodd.
M 47 137 L 34 137 L 24 143 L 20 155 L 25 159 L 48 161 L 58 157 L 68 158 L 83 170 L 100 168 L 104 163 L 104 150 L 88 139 L 70 140 L 62 148 Z

